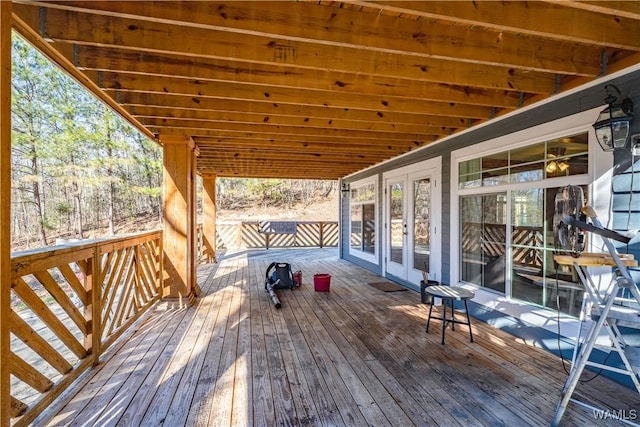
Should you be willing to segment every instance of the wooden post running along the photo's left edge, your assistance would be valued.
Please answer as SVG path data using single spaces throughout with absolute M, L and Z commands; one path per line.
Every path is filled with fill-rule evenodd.
M 0 426 L 11 424 L 11 6 L 0 1 Z

